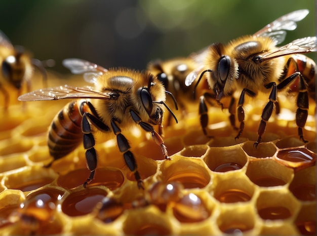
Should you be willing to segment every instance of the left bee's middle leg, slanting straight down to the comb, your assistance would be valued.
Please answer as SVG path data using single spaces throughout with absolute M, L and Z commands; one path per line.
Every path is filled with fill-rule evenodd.
M 134 158 L 133 153 L 130 151 L 130 144 L 127 138 L 121 133 L 120 127 L 116 124 L 116 121 L 114 119 L 111 120 L 111 127 L 113 130 L 113 133 L 116 135 L 117 144 L 119 147 L 120 152 L 123 153 L 123 157 L 125 159 L 125 162 L 130 169 L 130 171 L 134 174 L 134 177 L 136 181 L 138 182 L 138 188 L 144 189 L 143 181 L 140 177 L 139 172 L 137 171 L 137 163 Z

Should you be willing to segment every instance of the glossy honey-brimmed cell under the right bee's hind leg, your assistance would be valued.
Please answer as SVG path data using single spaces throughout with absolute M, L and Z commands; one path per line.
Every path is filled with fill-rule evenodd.
M 296 147 L 279 150 L 275 158 L 276 162 L 299 171 L 316 164 L 316 154 L 305 147 Z

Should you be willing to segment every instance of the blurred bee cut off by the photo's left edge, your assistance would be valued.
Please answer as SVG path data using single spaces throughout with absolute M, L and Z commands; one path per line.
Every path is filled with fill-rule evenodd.
M 30 55 L 24 52 L 23 47 L 13 47 L 9 38 L 2 31 L 0 31 L 0 63 L 0 91 L 5 97 L 5 109 L 8 109 L 10 97 L 5 86 L 13 86 L 18 90 L 19 96 L 21 95 L 23 84 L 26 83 L 26 89 L 30 92 L 33 66 L 36 66 L 42 73 L 44 82 L 46 83 L 47 81 L 47 73 L 43 63 L 38 59 L 31 58 Z

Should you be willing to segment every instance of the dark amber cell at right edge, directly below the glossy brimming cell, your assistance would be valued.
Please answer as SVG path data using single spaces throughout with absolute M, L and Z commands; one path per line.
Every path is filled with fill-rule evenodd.
M 316 200 L 316 171 L 315 166 L 301 170 L 294 175 L 289 189 L 300 201 Z

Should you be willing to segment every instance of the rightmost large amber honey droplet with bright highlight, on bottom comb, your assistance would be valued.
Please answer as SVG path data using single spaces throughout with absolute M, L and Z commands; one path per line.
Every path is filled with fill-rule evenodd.
M 180 222 L 199 222 L 207 219 L 210 212 L 206 209 L 199 196 L 194 193 L 184 195 L 173 208 L 174 216 Z

